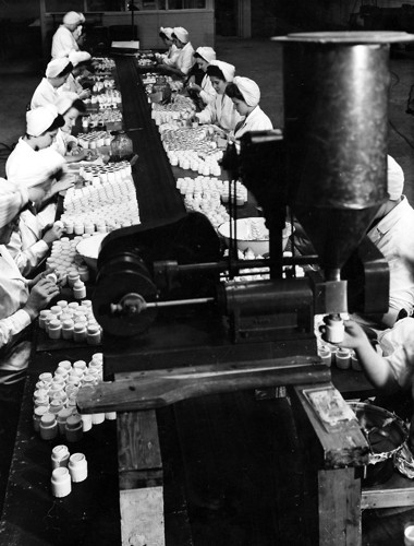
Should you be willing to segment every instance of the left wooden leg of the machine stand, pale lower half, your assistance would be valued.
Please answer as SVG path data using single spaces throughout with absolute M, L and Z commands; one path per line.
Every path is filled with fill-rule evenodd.
M 156 413 L 121 413 L 117 424 L 122 546 L 165 546 Z

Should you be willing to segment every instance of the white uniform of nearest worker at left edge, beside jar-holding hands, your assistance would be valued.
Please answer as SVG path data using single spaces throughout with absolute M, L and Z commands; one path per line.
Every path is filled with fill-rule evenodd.
M 4 245 L 0 245 L 0 347 L 31 323 L 28 313 L 21 309 L 27 298 L 27 281 Z M 0 369 L 4 368 L 0 365 Z

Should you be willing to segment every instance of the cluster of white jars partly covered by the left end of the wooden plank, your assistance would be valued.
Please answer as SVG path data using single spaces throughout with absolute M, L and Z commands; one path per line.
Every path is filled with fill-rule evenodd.
M 80 415 L 76 410 L 76 395 L 80 388 L 94 387 L 102 381 L 102 354 L 96 353 L 90 361 L 62 360 L 54 373 L 40 373 L 34 391 L 33 424 L 44 440 L 53 440 L 59 435 L 66 441 L 82 440 L 83 434 L 93 425 L 105 419 L 117 418 L 114 412 Z

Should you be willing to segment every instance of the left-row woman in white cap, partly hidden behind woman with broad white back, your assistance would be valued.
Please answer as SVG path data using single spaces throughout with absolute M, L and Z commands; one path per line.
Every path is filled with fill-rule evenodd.
M 62 93 L 54 106 L 58 114 L 63 117 L 64 126 L 58 129 L 52 147 L 64 157 L 66 163 L 80 162 L 87 156 L 87 152 L 78 146 L 76 136 L 71 133 L 76 119 L 85 114 L 85 105 L 76 93 Z

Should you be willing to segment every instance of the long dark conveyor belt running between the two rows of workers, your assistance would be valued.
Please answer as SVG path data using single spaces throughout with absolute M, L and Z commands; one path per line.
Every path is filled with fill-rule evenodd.
M 138 161 L 133 177 L 142 223 L 163 225 L 185 215 L 181 195 L 150 109 L 134 58 L 115 60 L 122 94 L 124 126 Z

